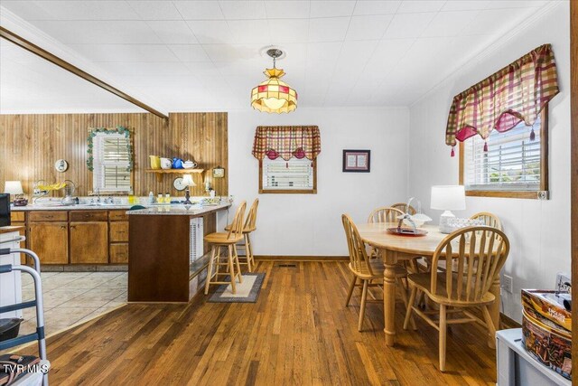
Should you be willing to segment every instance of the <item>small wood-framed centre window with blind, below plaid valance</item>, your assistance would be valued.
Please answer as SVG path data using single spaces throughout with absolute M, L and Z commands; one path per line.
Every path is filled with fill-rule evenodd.
M 317 162 L 307 158 L 259 161 L 259 193 L 317 193 Z

